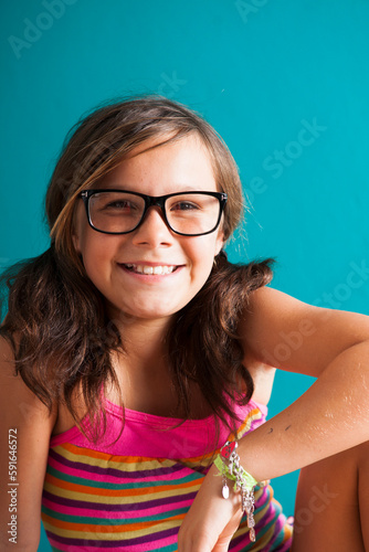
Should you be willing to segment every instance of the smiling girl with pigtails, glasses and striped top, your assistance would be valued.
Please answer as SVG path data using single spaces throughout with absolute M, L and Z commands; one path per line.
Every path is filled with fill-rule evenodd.
M 226 261 L 242 192 L 215 131 L 162 97 L 102 107 L 46 213 L 50 248 L 7 275 L 1 550 L 34 552 L 40 516 L 55 551 L 291 550 L 263 481 L 318 460 L 293 550 L 369 546 L 368 318 L 265 287 L 271 261 Z M 274 362 L 281 332 L 301 346 Z M 275 367 L 318 379 L 265 422 Z

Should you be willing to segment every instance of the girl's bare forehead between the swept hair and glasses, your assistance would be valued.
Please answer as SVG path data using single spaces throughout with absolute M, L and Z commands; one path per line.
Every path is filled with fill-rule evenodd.
M 157 195 L 186 189 L 217 190 L 211 158 L 200 137 L 192 134 L 166 142 L 167 139 L 156 137 L 139 145 L 98 181 L 98 188 Z

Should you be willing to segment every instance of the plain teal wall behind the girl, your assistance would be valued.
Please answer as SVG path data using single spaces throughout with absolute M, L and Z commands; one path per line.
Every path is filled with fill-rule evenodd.
M 368 28 L 365 0 L 3 3 L 1 266 L 48 246 L 44 191 L 80 116 L 161 93 L 203 114 L 240 167 L 252 205 L 232 259 L 274 256 L 274 287 L 368 314 Z M 309 384 L 278 373 L 271 415 Z M 286 513 L 296 480 L 274 481 Z

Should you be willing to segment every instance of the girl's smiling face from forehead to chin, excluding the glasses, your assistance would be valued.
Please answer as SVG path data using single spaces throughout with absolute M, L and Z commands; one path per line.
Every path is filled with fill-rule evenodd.
M 149 195 L 219 191 L 209 155 L 197 136 L 146 150 L 158 142 L 151 139 L 136 148 L 95 188 Z M 204 285 L 223 245 L 223 234 L 221 226 L 202 236 L 175 234 L 157 206 L 148 210 L 134 232 L 102 234 L 88 225 L 81 201 L 74 244 L 87 276 L 106 298 L 112 318 L 125 314 L 162 319 L 180 310 Z M 146 272 L 151 272 L 149 267 L 159 266 L 168 268 L 156 269 L 162 274 L 143 274 L 147 267 Z

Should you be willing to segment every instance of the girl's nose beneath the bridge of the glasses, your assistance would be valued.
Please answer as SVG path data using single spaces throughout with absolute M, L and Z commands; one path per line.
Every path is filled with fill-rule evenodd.
M 150 206 L 141 224 L 133 232 L 133 242 L 136 245 L 169 246 L 173 242 L 173 233 L 167 225 L 159 206 Z

